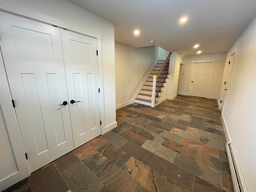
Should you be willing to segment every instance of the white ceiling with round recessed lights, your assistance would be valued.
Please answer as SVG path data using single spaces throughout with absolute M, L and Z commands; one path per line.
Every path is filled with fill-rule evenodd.
M 115 41 L 187 56 L 226 53 L 256 17 L 256 0 L 68 0 L 115 26 Z M 180 24 L 182 17 L 188 20 Z M 134 30 L 140 30 L 135 36 Z M 199 48 L 193 46 L 199 44 Z

